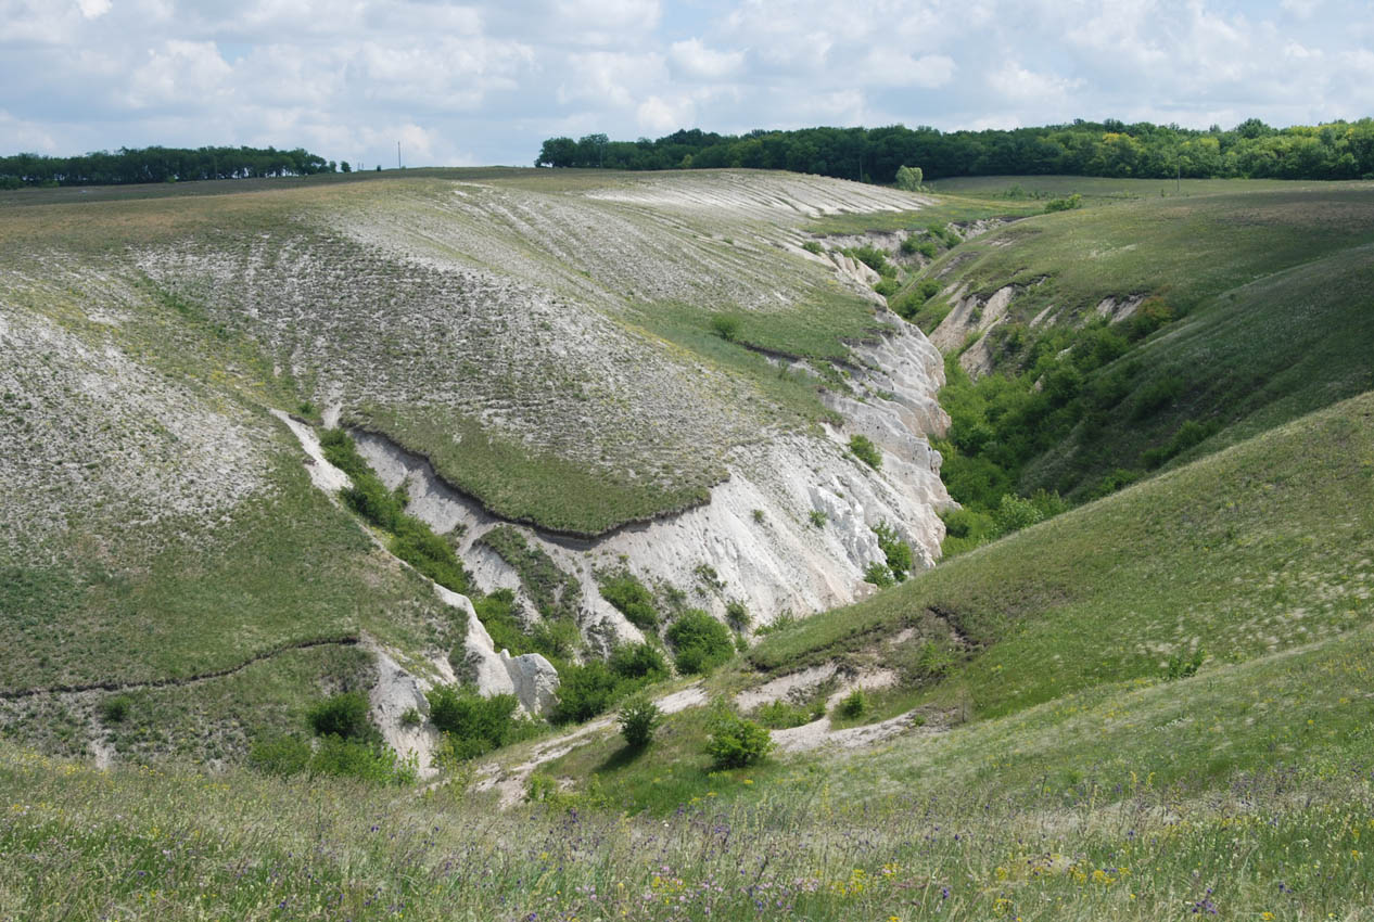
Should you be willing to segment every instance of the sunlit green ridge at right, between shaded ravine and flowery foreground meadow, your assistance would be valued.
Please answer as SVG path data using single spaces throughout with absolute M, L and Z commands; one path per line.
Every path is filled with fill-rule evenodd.
M 1369 621 L 1374 396 L 1289 423 L 763 640 L 771 672 L 937 607 L 987 651 L 929 695 L 1010 713 L 1157 677 L 1201 644 L 1243 661 Z

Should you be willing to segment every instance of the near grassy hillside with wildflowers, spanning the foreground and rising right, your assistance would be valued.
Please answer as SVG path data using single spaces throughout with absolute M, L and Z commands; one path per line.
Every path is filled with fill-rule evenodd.
M 1367 919 L 1371 493 L 1363 396 L 752 654 L 775 672 L 857 662 L 933 605 L 958 616 L 982 646 L 915 691 L 967 694 L 971 719 L 872 752 L 710 772 L 692 745 L 706 712 L 688 709 L 642 754 L 614 739 L 574 749 L 543 800 L 503 813 L 462 776 L 415 794 L 98 772 L 5 746 L 0 846 L 43 860 L 0 866 L 0 911 Z M 1194 638 L 1201 671 L 1168 680 L 1167 654 Z

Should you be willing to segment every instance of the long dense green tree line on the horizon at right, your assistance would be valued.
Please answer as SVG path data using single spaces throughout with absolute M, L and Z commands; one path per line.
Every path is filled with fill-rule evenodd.
M 1374 120 L 1271 128 L 1257 118 L 1230 131 L 1118 121 L 1011 131 L 802 128 L 716 135 L 679 131 L 650 140 L 550 137 L 536 166 L 706 169 L 746 166 L 892 183 L 897 168 L 947 176 L 1076 175 L 1191 179 L 1374 179 Z

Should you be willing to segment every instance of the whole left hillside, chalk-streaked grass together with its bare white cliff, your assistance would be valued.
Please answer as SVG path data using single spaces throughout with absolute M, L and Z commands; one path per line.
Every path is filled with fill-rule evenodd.
M 27 739 L 240 753 L 372 684 L 365 651 L 286 671 L 253 713 L 228 676 L 177 702 L 158 683 L 317 639 L 444 677 L 481 625 L 359 530 L 282 411 L 342 419 L 393 485 L 412 471 L 411 510 L 534 624 L 484 540 L 518 524 L 589 651 L 638 636 L 596 591 L 610 569 L 665 616 L 742 602 L 757 624 L 864 592 L 881 521 L 938 552 L 938 355 L 797 229 L 921 196 L 730 172 L 43 195 L 0 224 L 0 639 L 32 654 L 0 688 L 132 683 L 144 704 L 142 735 L 102 724 L 95 691 L 41 704 L 70 720 L 5 705 Z

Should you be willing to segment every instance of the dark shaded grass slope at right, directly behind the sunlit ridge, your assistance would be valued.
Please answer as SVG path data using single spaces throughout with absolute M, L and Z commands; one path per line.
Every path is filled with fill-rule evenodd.
M 1228 291 L 1131 353 L 1142 370 L 1117 404 L 1040 458 L 1025 486 L 1090 488 L 1114 467 L 1143 469 L 1161 451 L 1182 463 L 1304 414 L 1374 389 L 1374 247 L 1359 246 Z M 1143 418 L 1151 387 L 1173 396 Z M 1206 425 L 1197 447 L 1173 451 L 1179 431 Z M 1200 433 L 1204 434 L 1204 433 Z

